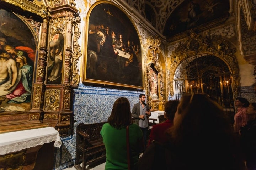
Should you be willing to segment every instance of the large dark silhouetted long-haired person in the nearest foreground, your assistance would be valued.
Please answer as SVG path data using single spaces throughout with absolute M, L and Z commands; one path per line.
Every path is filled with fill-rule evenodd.
M 152 143 L 139 170 L 242 170 L 241 149 L 223 108 L 204 94 L 182 96 L 169 143 Z

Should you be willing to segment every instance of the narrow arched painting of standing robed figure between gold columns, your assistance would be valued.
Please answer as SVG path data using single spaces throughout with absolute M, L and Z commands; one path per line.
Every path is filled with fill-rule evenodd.
M 53 35 L 48 53 L 47 84 L 61 83 L 63 45 L 63 35 L 59 33 Z

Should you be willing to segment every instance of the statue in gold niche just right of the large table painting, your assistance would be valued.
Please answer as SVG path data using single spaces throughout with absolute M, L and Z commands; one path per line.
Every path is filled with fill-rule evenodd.
M 157 90 L 158 90 L 158 75 L 156 74 L 156 72 L 150 68 L 150 92 L 149 92 L 149 96 L 151 97 L 151 100 L 157 100 L 158 99 L 158 95 L 157 95 Z

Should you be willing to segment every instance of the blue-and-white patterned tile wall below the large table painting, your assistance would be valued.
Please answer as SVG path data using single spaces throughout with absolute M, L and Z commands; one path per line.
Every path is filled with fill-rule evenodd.
M 107 121 L 112 111 L 114 101 L 119 97 L 126 97 L 133 105 L 139 102 L 139 94 L 144 91 L 128 91 L 108 89 L 79 84 L 74 89 L 74 130 L 73 135 L 62 138 L 62 147 L 57 148 L 55 169 L 61 170 L 72 166 L 75 162 L 76 126 L 80 123 L 91 124 Z

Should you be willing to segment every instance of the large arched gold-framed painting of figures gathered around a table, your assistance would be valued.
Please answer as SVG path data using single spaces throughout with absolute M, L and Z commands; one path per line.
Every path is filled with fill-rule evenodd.
M 143 89 L 140 39 L 128 16 L 105 1 L 92 6 L 87 23 L 83 83 Z

